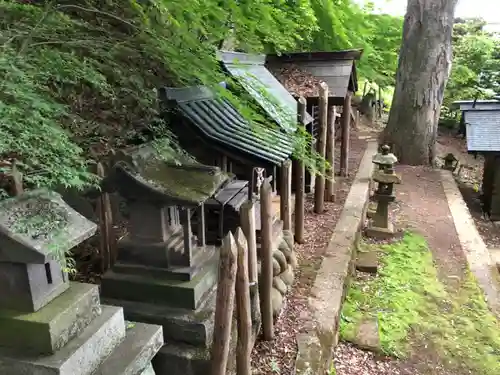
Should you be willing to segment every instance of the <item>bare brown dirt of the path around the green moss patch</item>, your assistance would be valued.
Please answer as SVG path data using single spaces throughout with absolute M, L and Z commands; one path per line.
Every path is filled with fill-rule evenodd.
M 402 184 L 395 188 L 397 199 L 393 214 L 396 227 L 411 229 L 425 237 L 440 282 L 452 295 L 460 295 L 468 282 L 468 264 L 441 183 L 440 171 L 409 166 L 398 166 L 396 170 L 402 177 Z M 421 340 L 412 345 L 410 358 L 399 361 L 340 343 L 335 349 L 336 375 L 472 374 L 466 368 L 445 369 L 441 365 L 443 358 L 439 358 L 436 351 Z

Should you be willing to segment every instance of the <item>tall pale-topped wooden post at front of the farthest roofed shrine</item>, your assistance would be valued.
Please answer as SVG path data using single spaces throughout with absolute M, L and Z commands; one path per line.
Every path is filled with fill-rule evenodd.
M 326 152 L 326 133 L 328 127 L 328 86 L 326 83 L 319 84 L 319 143 L 318 153 L 324 159 Z M 314 186 L 314 212 L 317 214 L 323 213 L 325 210 L 325 164 L 321 161 L 318 174 L 316 175 L 316 183 Z

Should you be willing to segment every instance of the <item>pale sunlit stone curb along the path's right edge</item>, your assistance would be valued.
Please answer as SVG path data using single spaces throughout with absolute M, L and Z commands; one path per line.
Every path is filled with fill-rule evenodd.
M 495 263 L 450 171 L 441 171 L 441 184 L 469 269 L 483 290 L 489 308 L 500 316 L 500 287 L 494 275 Z

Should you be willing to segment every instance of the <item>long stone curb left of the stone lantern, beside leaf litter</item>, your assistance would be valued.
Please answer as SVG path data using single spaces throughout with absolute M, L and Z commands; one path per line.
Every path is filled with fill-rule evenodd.
M 304 312 L 307 332 L 297 335 L 295 374 L 329 374 L 333 348 L 338 341 L 342 302 L 353 271 L 353 248 L 360 238 L 368 207 L 373 172 L 372 156 L 377 143 L 369 141 L 358 173 L 314 280 L 308 309 Z

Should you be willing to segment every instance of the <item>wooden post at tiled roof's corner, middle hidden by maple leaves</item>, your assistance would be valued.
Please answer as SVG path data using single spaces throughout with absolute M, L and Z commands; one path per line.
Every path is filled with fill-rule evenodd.
M 301 96 L 297 104 L 298 123 L 306 117 L 306 100 Z M 302 160 L 295 161 L 295 241 L 304 243 L 304 201 L 305 201 L 305 167 Z

